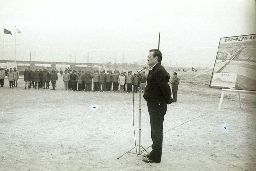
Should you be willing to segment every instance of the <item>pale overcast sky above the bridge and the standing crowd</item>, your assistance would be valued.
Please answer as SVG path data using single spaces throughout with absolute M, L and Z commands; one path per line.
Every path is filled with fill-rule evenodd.
M 167 3 L 168 2 L 168 3 Z M 0 59 L 213 66 L 221 37 L 256 33 L 255 0 L 0 0 Z M 4 36 L 4 41 L 3 41 Z M 4 47 L 3 47 L 4 43 Z M 4 51 L 3 51 L 4 49 Z

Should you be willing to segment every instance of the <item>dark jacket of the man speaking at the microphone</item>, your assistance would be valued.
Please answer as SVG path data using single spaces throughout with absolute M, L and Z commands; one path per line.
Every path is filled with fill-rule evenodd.
M 170 75 L 161 65 L 157 63 L 147 78 L 147 86 L 143 95 L 147 102 L 167 102 L 171 98 L 171 88 L 169 86 Z

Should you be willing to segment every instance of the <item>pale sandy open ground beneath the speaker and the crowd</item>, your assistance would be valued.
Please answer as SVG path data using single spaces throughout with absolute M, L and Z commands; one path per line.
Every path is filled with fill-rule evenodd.
M 195 75 L 195 74 L 194 74 Z M 210 74 L 184 74 L 178 102 L 168 105 L 161 163 L 125 154 L 135 146 L 133 93 L 0 88 L 0 170 L 249 171 L 256 170 L 255 93 L 210 89 Z M 207 78 L 207 79 L 206 79 Z M 138 145 L 139 94 L 134 98 Z M 225 129 L 226 128 L 226 129 Z M 141 145 L 151 145 L 149 114 L 141 96 Z M 148 148 L 150 151 L 150 148 Z M 132 152 L 136 152 L 135 150 Z

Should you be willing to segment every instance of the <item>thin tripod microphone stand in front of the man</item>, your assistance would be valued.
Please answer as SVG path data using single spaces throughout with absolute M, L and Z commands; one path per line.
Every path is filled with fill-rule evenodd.
M 140 73 L 142 70 L 146 69 L 147 67 L 144 67 L 143 69 L 141 69 L 140 71 L 138 71 L 136 74 Z M 135 75 L 136 75 L 135 74 Z M 134 89 L 134 87 L 133 87 Z M 134 93 L 134 91 L 133 91 Z M 145 155 L 145 152 L 147 152 L 149 154 L 149 152 L 141 145 L 141 77 L 139 76 L 139 145 L 136 145 L 136 142 L 135 142 L 135 147 L 133 147 L 131 150 L 129 150 L 128 152 L 125 152 L 124 154 L 127 154 L 127 153 L 132 153 L 132 154 L 136 154 L 137 156 L 138 155 L 142 155 L 142 153 L 144 153 Z M 137 146 L 139 147 L 139 151 L 137 152 Z M 136 148 L 136 153 L 134 152 L 131 152 L 134 148 Z M 141 151 L 141 148 L 142 148 L 142 151 Z M 121 155 L 120 157 L 124 156 Z M 120 157 L 118 157 L 117 159 L 119 159 Z M 146 155 L 145 155 L 146 157 Z M 147 158 L 147 157 L 146 157 Z M 149 159 L 147 158 L 147 160 L 149 161 Z M 149 162 L 150 164 L 150 162 Z M 151 166 L 151 164 L 150 164 Z

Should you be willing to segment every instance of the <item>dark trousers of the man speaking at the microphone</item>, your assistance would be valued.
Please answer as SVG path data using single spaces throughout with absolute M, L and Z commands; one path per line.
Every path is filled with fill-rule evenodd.
M 147 106 L 150 117 L 151 139 L 153 141 L 150 159 L 160 162 L 163 147 L 163 123 L 167 104 L 165 102 L 147 102 Z

